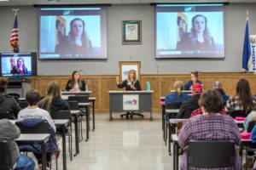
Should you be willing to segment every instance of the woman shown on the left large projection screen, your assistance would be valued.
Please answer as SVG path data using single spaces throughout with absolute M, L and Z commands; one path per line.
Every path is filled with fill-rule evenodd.
M 91 54 L 91 42 L 85 31 L 84 20 L 80 18 L 71 20 L 67 39 L 56 46 L 55 52 L 64 57 L 65 55 L 63 54 L 67 54 L 67 57 L 69 57 L 70 54 L 78 54 L 79 56 Z

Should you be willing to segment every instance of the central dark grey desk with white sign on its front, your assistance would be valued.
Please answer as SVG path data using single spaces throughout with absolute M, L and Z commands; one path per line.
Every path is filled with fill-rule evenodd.
M 150 112 L 152 117 L 152 94 L 154 91 L 108 91 L 109 121 L 113 120 L 112 112 Z

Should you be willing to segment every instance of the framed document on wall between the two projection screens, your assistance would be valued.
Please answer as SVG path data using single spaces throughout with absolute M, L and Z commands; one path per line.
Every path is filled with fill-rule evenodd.
M 142 43 L 142 21 L 122 20 L 122 44 Z

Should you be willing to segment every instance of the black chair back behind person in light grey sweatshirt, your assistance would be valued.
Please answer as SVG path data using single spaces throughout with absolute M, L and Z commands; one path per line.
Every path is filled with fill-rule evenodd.
M 28 127 L 21 122 L 15 122 L 16 126 L 20 128 L 20 133 L 49 133 L 49 123 L 40 122 L 34 127 Z

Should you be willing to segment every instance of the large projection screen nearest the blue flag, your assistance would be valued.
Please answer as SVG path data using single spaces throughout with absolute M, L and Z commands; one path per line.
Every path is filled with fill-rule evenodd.
M 224 4 L 155 6 L 156 59 L 224 59 Z

